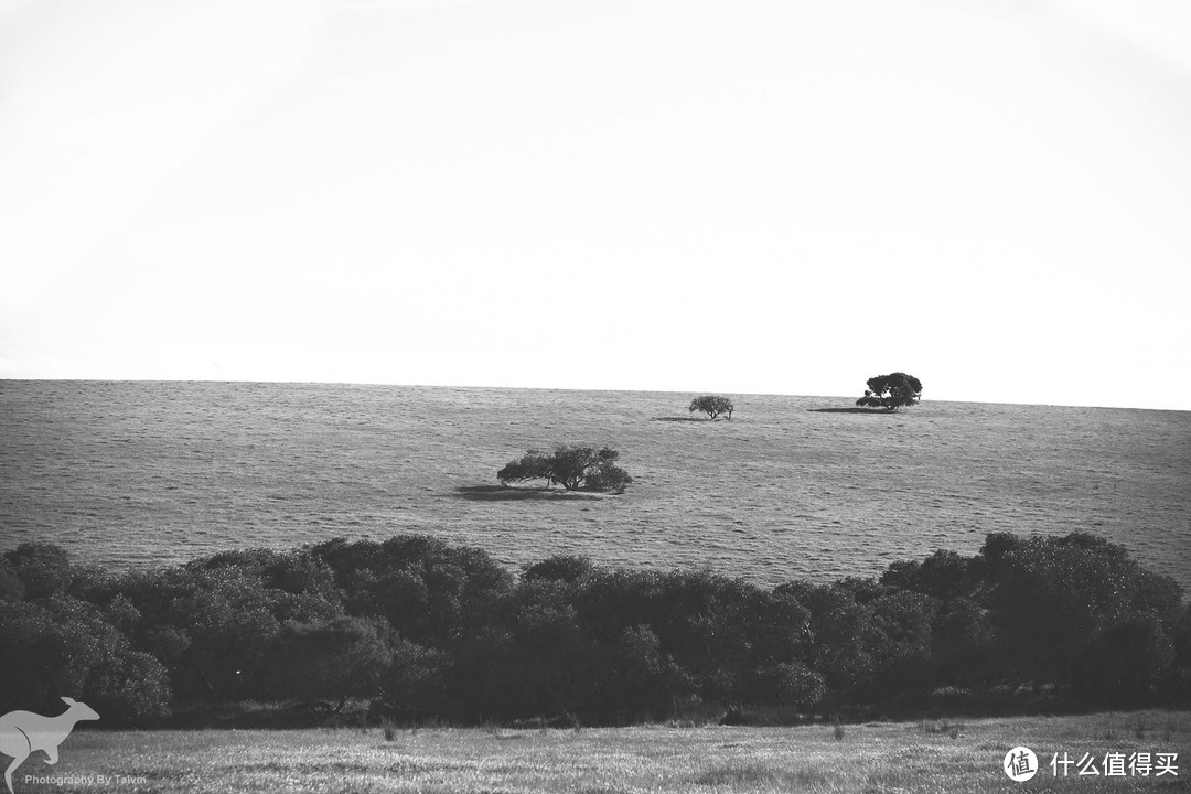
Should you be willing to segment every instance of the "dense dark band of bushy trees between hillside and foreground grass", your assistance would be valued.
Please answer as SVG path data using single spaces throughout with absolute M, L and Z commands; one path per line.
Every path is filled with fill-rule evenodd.
M 1085 533 L 771 589 L 570 556 L 513 576 L 425 536 L 119 574 L 26 544 L 0 600 L 0 713 L 69 695 L 108 726 L 247 701 L 457 724 L 1191 702 L 1181 589 Z

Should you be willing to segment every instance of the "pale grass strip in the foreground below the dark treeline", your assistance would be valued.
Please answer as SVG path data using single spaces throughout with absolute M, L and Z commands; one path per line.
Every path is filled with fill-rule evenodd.
M 1027 783 L 1002 771 L 1015 746 L 1042 769 Z M 1177 752 L 1178 776 L 1067 779 L 1054 754 Z M 1062 769 L 1060 768 L 1060 774 Z M 24 775 L 74 776 L 74 783 Z M 108 779 L 102 786 L 95 776 Z M 88 776 L 92 779 L 88 784 Z M 124 780 L 126 779 L 126 780 Z M 80 782 L 83 781 L 83 782 Z M 79 731 L 55 767 L 25 762 L 21 792 L 428 792 L 428 793 L 871 793 L 1191 790 L 1191 714 L 981 719 L 803 727 L 572 730 L 380 729 L 310 731 Z

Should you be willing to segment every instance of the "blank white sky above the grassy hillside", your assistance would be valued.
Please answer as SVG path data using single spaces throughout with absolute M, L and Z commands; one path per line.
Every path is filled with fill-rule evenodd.
M 0 0 L 0 377 L 1191 409 L 1185 0 Z

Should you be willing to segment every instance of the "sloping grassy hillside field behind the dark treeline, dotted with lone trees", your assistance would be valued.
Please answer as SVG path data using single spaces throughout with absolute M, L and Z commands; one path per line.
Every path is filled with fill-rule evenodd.
M 735 395 L 712 423 L 690 398 L 0 381 L 0 543 L 143 564 L 419 531 L 510 565 L 584 554 L 773 584 L 1086 530 L 1191 586 L 1191 412 Z M 566 442 L 617 448 L 636 482 L 493 489 L 509 459 Z

